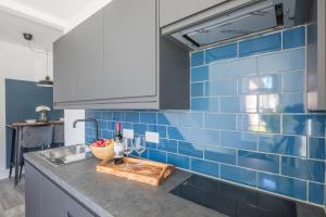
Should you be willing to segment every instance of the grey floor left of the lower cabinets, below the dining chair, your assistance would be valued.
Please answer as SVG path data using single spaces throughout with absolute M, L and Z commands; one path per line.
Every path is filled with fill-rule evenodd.
M 17 187 L 13 179 L 0 180 L 0 217 L 25 216 L 25 180 L 22 178 Z

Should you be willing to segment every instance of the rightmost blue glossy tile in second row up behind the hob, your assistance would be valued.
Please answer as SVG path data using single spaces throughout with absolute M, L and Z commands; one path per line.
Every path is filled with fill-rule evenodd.
M 325 163 L 297 157 L 281 157 L 281 174 L 300 179 L 324 182 Z

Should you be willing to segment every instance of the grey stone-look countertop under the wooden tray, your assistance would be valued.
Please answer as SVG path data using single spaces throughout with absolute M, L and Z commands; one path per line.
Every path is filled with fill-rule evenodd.
M 191 174 L 177 169 L 162 186 L 151 187 L 108 174 L 97 173 L 96 158 L 53 166 L 35 153 L 25 159 L 102 217 L 225 217 L 168 193 Z

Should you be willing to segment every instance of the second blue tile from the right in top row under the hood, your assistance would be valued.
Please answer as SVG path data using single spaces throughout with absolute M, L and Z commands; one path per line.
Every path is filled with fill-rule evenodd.
M 239 56 L 278 51 L 281 48 L 280 43 L 280 33 L 243 40 L 239 42 Z

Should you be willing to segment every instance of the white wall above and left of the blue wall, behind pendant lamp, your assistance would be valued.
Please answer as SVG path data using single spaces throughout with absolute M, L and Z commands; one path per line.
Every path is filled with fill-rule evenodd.
M 49 59 L 52 77 L 52 58 Z M 46 55 L 32 52 L 27 47 L 0 41 L 0 179 L 5 170 L 5 99 L 4 79 L 39 80 L 46 74 Z

